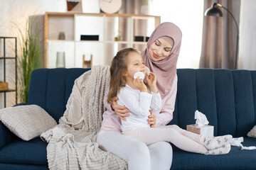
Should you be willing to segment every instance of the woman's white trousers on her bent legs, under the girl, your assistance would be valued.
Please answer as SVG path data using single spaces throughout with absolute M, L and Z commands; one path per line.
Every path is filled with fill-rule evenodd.
M 117 131 L 100 131 L 97 135 L 100 148 L 127 162 L 129 170 L 169 170 L 172 147 L 168 142 L 156 142 L 146 146 L 143 142 L 122 135 Z

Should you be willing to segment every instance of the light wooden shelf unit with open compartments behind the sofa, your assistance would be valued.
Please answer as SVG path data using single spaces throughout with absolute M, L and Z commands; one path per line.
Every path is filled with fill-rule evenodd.
M 99 20 L 102 20 L 102 22 L 91 22 L 88 23 L 88 26 L 90 27 L 90 24 L 98 24 L 99 25 L 99 29 L 101 28 L 102 30 L 100 30 L 100 40 L 99 41 L 85 41 L 85 40 L 78 40 L 79 35 L 81 35 L 81 27 L 82 27 L 82 22 L 80 22 L 81 18 L 86 20 L 86 18 L 88 17 L 97 17 L 99 18 Z M 96 20 L 97 20 L 96 18 Z M 120 40 L 120 41 L 114 41 L 114 38 L 112 40 L 107 39 L 107 32 L 106 28 L 107 26 L 111 27 L 109 24 L 110 22 L 108 22 L 107 24 L 105 24 L 105 20 L 109 19 L 113 20 L 114 18 L 125 18 L 127 19 L 127 27 L 126 28 L 127 32 L 127 39 L 129 40 Z M 73 51 L 73 55 L 74 58 L 76 55 L 78 55 L 77 53 L 80 52 L 79 49 L 81 47 L 78 46 L 86 46 L 88 45 L 88 43 L 91 44 L 95 44 L 95 43 L 99 43 L 99 48 L 103 49 L 102 53 L 103 54 L 97 54 L 97 55 L 105 55 L 105 50 L 104 49 L 110 49 L 110 48 L 114 48 L 114 50 L 117 50 L 117 47 L 115 47 L 114 45 L 127 45 L 127 46 L 132 46 L 132 45 L 146 45 L 146 42 L 136 42 L 133 40 L 134 38 L 134 32 L 133 32 L 133 28 L 134 28 L 134 21 L 136 20 L 151 20 L 151 30 L 154 30 L 154 28 L 156 28 L 156 26 L 159 26 L 160 24 L 160 16 L 149 16 L 149 15 L 136 15 L 136 14 L 127 14 L 127 13 L 74 13 L 74 12 L 67 12 L 67 13 L 56 13 L 56 12 L 46 12 L 45 14 L 45 23 L 44 23 L 44 30 L 45 30 L 45 34 L 44 34 L 44 48 L 45 48 L 45 56 L 44 56 L 44 67 L 48 68 L 49 67 L 49 62 L 52 64 L 54 62 L 53 59 L 49 60 L 49 57 L 55 55 L 55 51 L 54 51 L 54 47 L 55 45 L 57 45 L 58 43 L 63 45 L 66 43 L 66 45 L 63 45 L 63 50 L 66 50 L 65 47 L 70 47 L 70 49 L 74 49 Z M 152 20 L 154 20 L 152 22 Z M 114 23 L 113 23 L 114 24 Z M 117 23 L 115 23 L 117 24 Z M 85 25 L 83 25 L 85 26 Z M 98 28 L 97 28 L 98 29 Z M 65 30 L 65 31 L 63 31 Z M 110 29 L 112 30 L 112 29 Z M 65 32 L 65 40 L 58 40 L 58 33 L 59 32 Z M 129 32 L 129 33 L 128 33 Z M 90 33 L 90 31 L 88 31 L 87 33 L 88 35 L 92 34 Z M 106 40 L 107 39 L 107 40 Z M 67 44 L 69 43 L 69 44 Z M 113 47 L 105 47 L 107 45 L 112 45 Z M 54 52 L 50 51 L 50 56 L 49 56 L 49 47 L 50 50 L 53 50 Z M 58 48 L 60 49 L 60 47 Z M 113 52 L 112 52 L 113 53 Z M 68 54 L 70 56 L 70 52 Z M 80 54 L 79 54 L 80 57 Z M 80 58 L 77 57 L 76 60 L 80 60 Z M 69 59 L 70 60 L 70 59 Z M 75 60 L 75 59 L 74 59 Z M 99 61 L 100 58 L 97 58 L 96 61 Z M 104 60 L 104 59 L 102 59 Z M 95 60 L 94 60 L 95 61 Z M 66 61 L 67 62 L 67 61 Z M 53 67 L 53 64 L 50 66 Z M 69 66 L 72 67 L 72 64 Z M 74 67 L 79 67 L 75 64 L 74 62 Z

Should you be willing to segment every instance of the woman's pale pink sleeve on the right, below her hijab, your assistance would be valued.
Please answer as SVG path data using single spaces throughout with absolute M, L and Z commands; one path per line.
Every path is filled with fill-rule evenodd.
M 176 101 L 177 82 L 178 77 L 176 74 L 174 83 L 171 86 L 171 91 L 166 96 L 166 101 L 163 103 L 163 108 L 161 109 L 160 113 L 156 115 L 156 125 L 167 125 L 174 118 L 173 113 Z

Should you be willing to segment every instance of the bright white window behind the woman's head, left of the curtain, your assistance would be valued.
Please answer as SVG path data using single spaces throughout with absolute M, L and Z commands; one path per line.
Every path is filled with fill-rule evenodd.
M 177 68 L 198 68 L 203 33 L 203 0 L 149 1 L 149 15 L 161 16 L 161 23 L 175 23 L 182 31 Z

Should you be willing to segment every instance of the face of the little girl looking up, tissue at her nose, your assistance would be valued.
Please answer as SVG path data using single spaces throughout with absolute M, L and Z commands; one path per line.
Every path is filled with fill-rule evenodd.
M 127 72 L 125 72 L 124 76 L 133 80 L 136 72 L 143 72 L 144 75 L 146 74 L 146 66 L 142 60 L 142 55 L 139 52 L 129 52 L 127 57 Z

